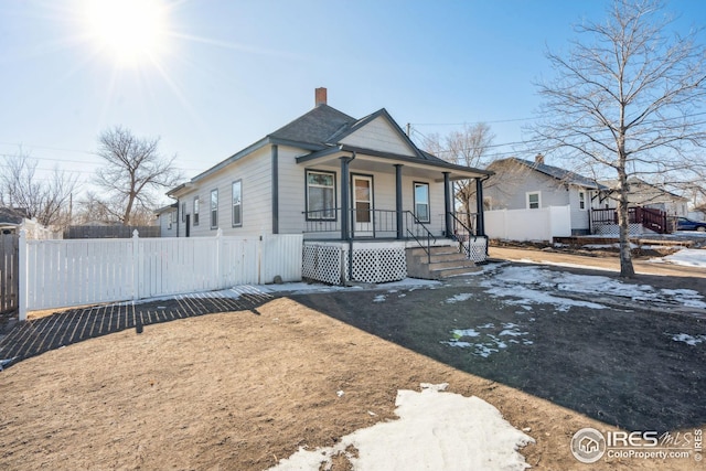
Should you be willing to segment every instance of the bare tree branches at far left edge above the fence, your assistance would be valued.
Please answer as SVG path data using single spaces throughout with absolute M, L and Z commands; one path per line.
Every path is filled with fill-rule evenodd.
M 20 150 L 6 157 L 0 173 L 0 203 L 22 210 L 44 226 L 68 224 L 72 194 L 77 176 L 58 168 L 45 176 L 36 174 L 38 161 Z

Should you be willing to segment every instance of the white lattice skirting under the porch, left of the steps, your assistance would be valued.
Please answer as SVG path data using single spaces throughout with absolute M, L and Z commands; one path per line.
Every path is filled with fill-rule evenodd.
M 349 250 L 347 244 L 304 243 L 302 277 L 329 285 L 343 285 L 346 281 L 378 283 L 407 277 L 404 244 L 353 244 L 352 270 L 349 269 Z

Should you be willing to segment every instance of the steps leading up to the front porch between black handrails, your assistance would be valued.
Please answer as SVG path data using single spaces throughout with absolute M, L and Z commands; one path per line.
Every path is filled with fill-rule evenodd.
M 459 251 L 458 245 L 431 247 L 430 255 L 421 247 L 408 248 L 407 276 L 439 280 L 480 270 L 473 260 Z

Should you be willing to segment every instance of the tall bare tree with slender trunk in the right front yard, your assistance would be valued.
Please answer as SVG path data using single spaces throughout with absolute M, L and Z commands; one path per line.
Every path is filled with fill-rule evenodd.
M 618 180 L 620 276 L 632 277 L 628 178 L 685 179 L 703 169 L 706 54 L 698 31 L 671 34 L 653 0 L 616 0 L 607 21 L 576 28 L 566 56 L 547 53 L 556 78 L 539 84 L 538 137 Z

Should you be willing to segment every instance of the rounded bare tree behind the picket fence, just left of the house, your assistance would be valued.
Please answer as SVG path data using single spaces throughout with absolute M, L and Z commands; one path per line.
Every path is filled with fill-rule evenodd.
M 96 172 L 95 183 L 105 196 L 94 203 L 122 224 L 129 225 L 139 212 L 153 210 L 157 190 L 173 186 L 181 178 L 174 168 L 175 156 L 161 156 L 158 144 L 159 138 L 140 139 L 119 126 L 98 138 L 97 154 L 106 164 Z

